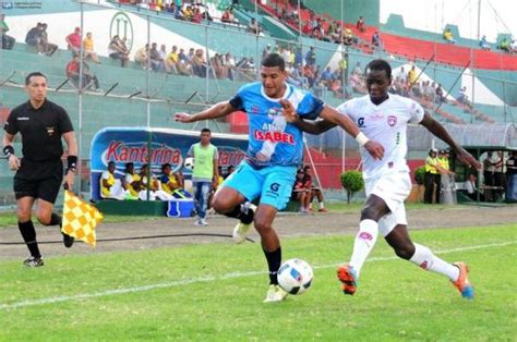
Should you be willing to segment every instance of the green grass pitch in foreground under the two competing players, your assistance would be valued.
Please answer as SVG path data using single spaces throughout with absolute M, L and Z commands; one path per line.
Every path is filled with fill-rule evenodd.
M 443 277 L 396 259 L 380 239 L 353 297 L 336 266 L 351 235 L 282 240 L 284 259 L 314 267 L 313 286 L 263 304 L 260 244 L 205 244 L 0 261 L 0 340 L 515 340 L 516 224 L 414 231 L 414 241 L 471 269 L 474 301 Z

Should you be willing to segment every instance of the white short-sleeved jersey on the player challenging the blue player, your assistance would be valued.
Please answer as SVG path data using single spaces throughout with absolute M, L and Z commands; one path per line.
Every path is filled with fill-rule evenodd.
M 370 139 L 384 146 L 384 158 L 373 159 L 364 147 L 360 148 L 365 180 L 394 171 L 409 171 L 406 154 L 408 123 L 423 119 L 423 108 L 412 99 L 389 94 L 376 106 L 370 95 L 346 101 L 337 108 L 348 114 Z

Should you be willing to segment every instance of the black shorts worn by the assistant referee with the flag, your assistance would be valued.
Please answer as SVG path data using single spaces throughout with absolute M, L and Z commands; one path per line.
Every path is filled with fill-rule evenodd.
M 21 159 L 22 166 L 14 175 L 14 196 L 41 198 L 53 204 L 63 180 L 61 159 L 34 161 Z

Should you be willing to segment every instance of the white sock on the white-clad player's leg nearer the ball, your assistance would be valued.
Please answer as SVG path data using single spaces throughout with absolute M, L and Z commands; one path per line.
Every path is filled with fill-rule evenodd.
M 374 220 L 362 220 L 359 222 L 359 232 L 353 242 L 353 252 L 350 258 L 350 266 L 356 271 L 357 277 L 361 272 L 362 265 L 368 255 L 375 246 L 378 235 L 378 223 Z

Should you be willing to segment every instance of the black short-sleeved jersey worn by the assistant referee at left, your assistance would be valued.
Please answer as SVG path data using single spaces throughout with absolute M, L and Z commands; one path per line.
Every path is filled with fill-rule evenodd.
M 23 158 L 34 161 L 59 160 L 63 155 L 61 135 L 73 131 L 67 111 L 49 100 L 35 109 L 31 101 L 14 108 L 3 129 L 22 135 Z

